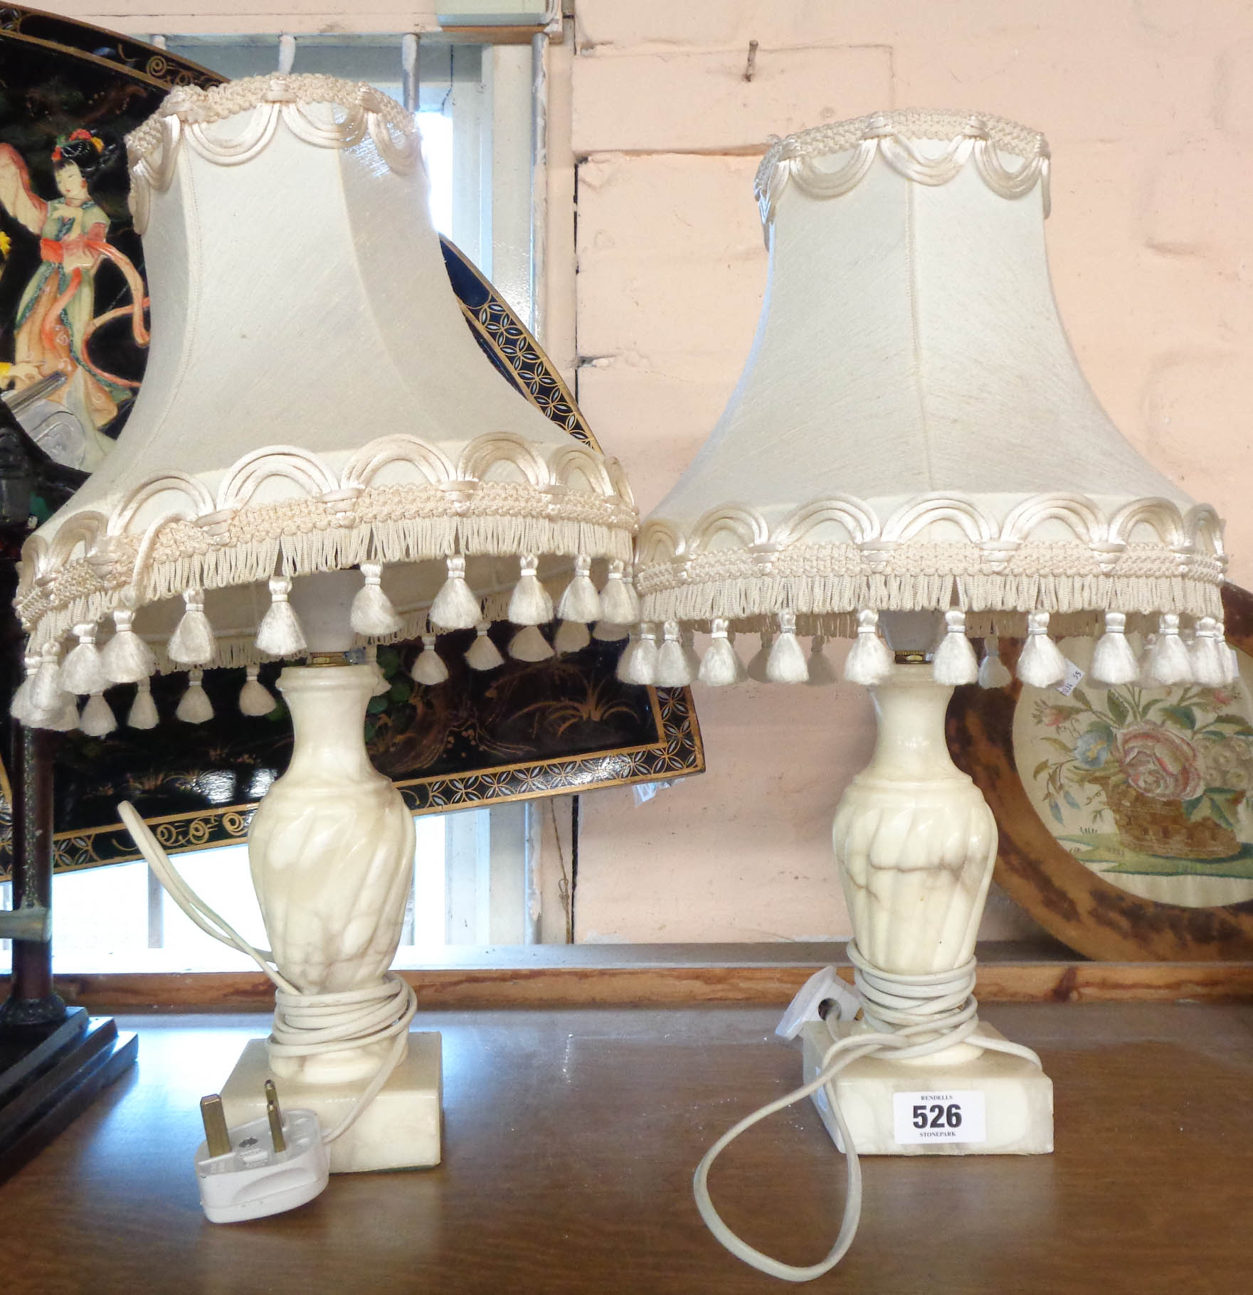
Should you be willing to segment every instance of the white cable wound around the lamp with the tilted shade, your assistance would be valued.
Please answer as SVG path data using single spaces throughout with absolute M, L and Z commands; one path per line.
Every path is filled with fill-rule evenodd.
M 302 993 L 279 970 L 270 949 L 254 948 L 223 917 L 219 917 L 181 878 L 170 856 L 139 816 L 135 805 L 123 800 L 118 813 L 140 853 L 174 901 L 207 935 L 246 953 L 275 985 L 275 1020 L 271 1033 L 272 1057 L 314 1057 L 345 1048 L 368 1048 L 394 1040 L 377 1074 L 365 1085 L 352 1110 L 327 1134 L 334 1142 L 378 1096 L 399 1066 L 408 1041 L 409 1022 L 417 1011 L 417 995 L 400 976 L 389 971 L 384 982 L 363 989 L 337 993 Z

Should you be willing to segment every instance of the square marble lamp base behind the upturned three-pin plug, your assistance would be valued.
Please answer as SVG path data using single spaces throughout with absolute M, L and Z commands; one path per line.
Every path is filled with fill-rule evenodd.
M 222 1089 L 228 1127 L 264 1116 L 267 1079 L 275 1081 L 280 1106 L 315 1111 L 323 1132 L 333 1129 L 349 1114 L 363 1087 L 280 1079 L 270 1071 L 266 1040 L 250 1039 Z M 412 1031 L 408 1055 L 358 1121 L 328 1147 L 330 1172 L 438 1164 L 442 1092 L 439 1035 Z

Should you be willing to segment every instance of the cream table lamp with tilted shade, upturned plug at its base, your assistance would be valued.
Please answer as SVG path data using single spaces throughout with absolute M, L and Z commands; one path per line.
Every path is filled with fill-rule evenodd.
M 438 1035 L 411 1037 L 413 993 L 389 971 L 415 833 L 365 754 L 368 653 L 508 618 L 511 650 L 535 660 L 555 614 L 634 622 L 630 492 L 479 351 L 398 104 L 258 76 L 176 89 L 127 146 L 152 352 L 115 449 L 26 544 L 16 714 L 105 733 L 121 684 L 146 728 L 149 676 L 188 671 L 178 717 L 196 723 L 219 666 L 250 667 L 240 704 L 266 714 L 257 667 L 307 658 L 279 679 L 294 750 L 249 831 L 277 1010 L 223 1089 L 227 1116 L 264 1112 L 268 1074 L 321 1118 L 332 1169 L 434 1163 Z M 483 633 L 468 657 L 501 659 Z M 420 680 L 446 677 L 438 650 L 417 660 Z M 123 817 L 193 917 L 237 943 Z

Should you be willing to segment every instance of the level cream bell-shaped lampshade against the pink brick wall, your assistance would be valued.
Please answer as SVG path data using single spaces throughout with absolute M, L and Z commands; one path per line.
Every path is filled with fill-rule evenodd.
M 876 682 L 879 614 L 926 611 L 928 635 L 946 614 L 942 682 L 973 681 L 967 633 L 1025 633 L 1020 676 L 1056 682 L 1050 628 L 1088 633 L 1098 614 L 1098 679 L 1136 677 L 1138 632 L 1157 636 L 1155 681 L 1222 682 L 1222 527 L 1120 434 L 1075 363 L 1048 277 L 1043 136 L 877 113 L 774 144 L 757 196 L 757 337 L 643 526 L 644 637 L 625 676 L 684 681 L 676 653 L 657 677 L 650 640 L 695 624 L 714 635 L 709 682 L 740 673 L 735 629 L 777 635 L 780 681 L 809 673 L 798 632 L 855 636 L 847 677 Z

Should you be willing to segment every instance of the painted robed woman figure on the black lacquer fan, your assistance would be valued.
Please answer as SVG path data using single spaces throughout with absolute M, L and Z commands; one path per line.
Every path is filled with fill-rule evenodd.
M 101 139 L 74 131 L 52 152 L 58 196 L 41 198 L 31 188 L 21 154 L 0 144 L 0 203 L 39 237 L 40 255 L 18 302 L 13 361 L 0 365 L 0 386 L 21 392 L 43 378 L 63 377 L 47 400 L 71 414 L 73 422 L 62 414 L 54 443 L 47 448 L 60 462 L 84 471 L 95 471 L 113 447 L 100 429 L 114 420 L 136 386 L 92 363 L 91 337 L 108 320 L 130 315 L 135 342 L 148 342 L 143 280 L 130 259 L 109 243 L 109 216 L 88 188 L 108 161 L 105 152 Z M 97 317 L 96 271 L 105 258 L 124 276 L 131 302 Z

